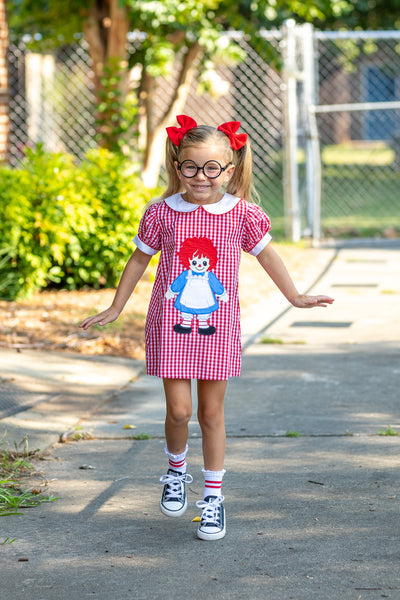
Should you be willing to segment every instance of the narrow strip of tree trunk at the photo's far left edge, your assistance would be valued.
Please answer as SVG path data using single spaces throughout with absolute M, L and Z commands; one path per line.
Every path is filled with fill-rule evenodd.
M 0 161 L 8 158 L 8 136 L 10 129 L 8 90 L 8 24 L 7 2 L 0 0 Z

